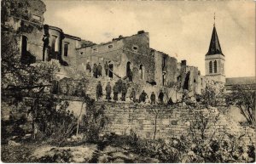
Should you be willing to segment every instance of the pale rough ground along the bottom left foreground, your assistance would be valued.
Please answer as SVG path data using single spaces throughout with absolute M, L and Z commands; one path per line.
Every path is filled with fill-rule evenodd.
M 48 144 L 2 145 L 2 161 L 7 163 L 72 162 L 72 163 L 137 163 L 153 162 L 157 159 L 139 156 L 130 150 L 109 143 L 80 144 L 56 147 Z

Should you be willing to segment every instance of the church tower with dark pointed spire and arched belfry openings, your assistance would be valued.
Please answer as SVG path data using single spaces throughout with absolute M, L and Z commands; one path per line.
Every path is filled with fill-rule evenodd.
M 218 35 L 214 24 L 209 50 L 205 58 L 207 79 L 214 82 L 225 82 L 225 56 L 221 51 Z

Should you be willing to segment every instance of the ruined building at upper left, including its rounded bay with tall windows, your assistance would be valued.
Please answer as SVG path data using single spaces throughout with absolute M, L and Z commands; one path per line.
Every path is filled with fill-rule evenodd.
M 15 34 L 19 41 L 21 59 L 31 62 L 43 60 L 43 40 L 47 37 L 48 48 L 44 60 L 58 59 L 61 65 L 74 65 L 76 48 L 92 44 L 64 33 L 61 28 L 44 25 L 46 6 L 41 0 L 3 0 L 2 10 L 2 32 L 11 31 Z

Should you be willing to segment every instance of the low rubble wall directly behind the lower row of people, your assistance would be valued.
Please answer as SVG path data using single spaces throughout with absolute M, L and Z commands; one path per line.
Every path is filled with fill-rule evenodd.
M 103 99 L 106 96 L 106 86 L 108 82 L 110 82 L 111 87 L 113 88 L 114 83 L 117 80 L 111 79 L 109 77 L 86 77 L 83 79 L 75 79 L 75 78 L 63 78 L 58 82 L 54 82 L 53 88 L 57 89 L 58 94 L 64 95 L 72 95 L 72 96 L 81 96 L 81 93 L 88 94 L 90 98 L 96 99 L 96 85 L 98 82 L 102 83 L 103 90 Z M 172 98 L 173 102 L 177 102 L 177 99 L 181 99 L 182 93 L 176 91 L 174 88 L 167 88 L 160 85 L 151 85 L 148 82 L 144 82 L 143 80 L 137 80 L 137 82 L 127 82 L 124 81 L 127 85 L 127 93 L 126 93 L 126 102 L 131 102 L 129 99 L 131 95 L 132 88 L 136 91 L 136 98 L 139 99 L 139 95 L 145 91 L 148 94 L 148 99 L 146 99 L 146 103 L 150 104 L 150 94 L 154 92 L 156 94 L 156 100 L 158 100 L 158 95 L 160 93 L 160 89 L 165 93 L 164 102 L 166 103 L 169 98 Z M 55 86 L 56 85 L 56 86 Z M 54 92 L 56 93 L 56 92 Z M 113 98 L 113 91 L 111 93 L 111 97 Z M 121 93 L 119 93 L 119 100 L 121 98 Z

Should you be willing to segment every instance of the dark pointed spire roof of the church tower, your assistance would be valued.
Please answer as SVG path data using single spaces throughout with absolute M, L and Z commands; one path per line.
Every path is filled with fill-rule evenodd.
M 218 42 L 218 35 L 217 35 L 216 28 L 215 28 L 215 24 L 213 25 L 212 38 L 211 38 L 211 42 L 210 42 L 210 46 L 209 46 L 207 55 L 212 55 L 212 54 L 222 54 L 220 44 Z M 222 54 L 222 55 L 224 55 L 224 54 Z

